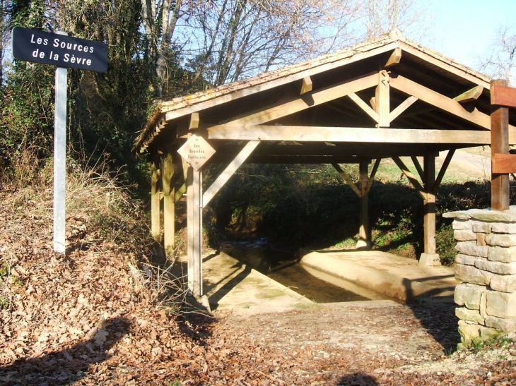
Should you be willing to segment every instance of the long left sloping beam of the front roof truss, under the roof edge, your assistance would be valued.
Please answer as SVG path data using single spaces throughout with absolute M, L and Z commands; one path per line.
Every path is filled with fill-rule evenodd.
M 239 116 L 234 116 L 231 119 L 222 121 L 222 124 L 235 124 L 235 123 L 266 123 L 274 121 L 282 116 L 288 116 L 310 107 L 315 107 L 319 104 L 327 103 L 333 99 L 344 97 L 351 92 L 358 92 L 367 88 L 374 87 L 378 83 L 377 74 L 371 74 L 363 76 L 356 80 L 346 81 L 339 83 L 338 85 L 330 86 L 322 90 L 314 92 L 308 92 L 302 97 L 295 98 L 288 102 L 280 102 L 278 104 L 269 105 L 263 109 L 255 109 Z M 310 98 L 307 98 L 310 96 Z

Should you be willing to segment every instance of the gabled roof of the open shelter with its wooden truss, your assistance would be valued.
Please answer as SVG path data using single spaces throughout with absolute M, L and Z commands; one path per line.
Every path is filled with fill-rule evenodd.
M 195 132 L 215 148 L 212 162 L 259 140 L 247 162 L 345 163 L 488 145 L 490 81 L 394 31 L 162 102 L 136 148 L 175 153 Z

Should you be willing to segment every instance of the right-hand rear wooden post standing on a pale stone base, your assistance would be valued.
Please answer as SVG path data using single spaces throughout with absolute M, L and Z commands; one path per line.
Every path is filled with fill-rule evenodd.
M 435 253 L 435 155 L 428 154 L 423 159 L 423 243 L 424 252 L 419 265 L 441 265 Z

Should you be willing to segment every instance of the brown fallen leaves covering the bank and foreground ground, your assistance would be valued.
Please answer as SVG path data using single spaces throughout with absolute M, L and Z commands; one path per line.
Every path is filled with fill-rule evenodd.
M 0 385 L 514 384 L 513 339 L 447 353 L 450 306 L 169 312 L 134 272 L 143 253 L 88 213 L 67 214 L 74 248 L 54 254 L 51 194 L 0 193 Z

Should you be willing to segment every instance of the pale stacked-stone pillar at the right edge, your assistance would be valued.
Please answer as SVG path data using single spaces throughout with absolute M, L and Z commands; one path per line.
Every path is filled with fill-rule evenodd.
M 455 303 L 462 342 L 516 331 L 516 207 L 445 213 L 459 252 Z

